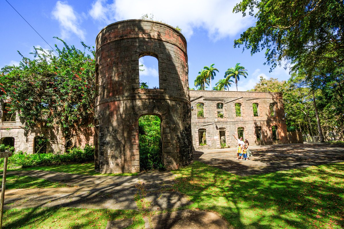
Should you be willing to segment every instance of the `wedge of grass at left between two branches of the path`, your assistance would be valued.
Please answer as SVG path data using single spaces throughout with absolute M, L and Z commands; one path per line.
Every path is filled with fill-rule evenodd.
M 1 176 L 2 178 L 2 176 Z M 71 185 L 47 181 L 43 179 L 32 178 L 30 176 L 6 176 L 6 189 L 14 188 L 61 188 L 72 187 Z

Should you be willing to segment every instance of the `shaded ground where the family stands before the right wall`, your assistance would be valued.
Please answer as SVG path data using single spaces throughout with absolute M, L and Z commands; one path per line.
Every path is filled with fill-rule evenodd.
M 194 152 L 194 160 L 240 175 L 269 173 L 344 161 L 344 144 L 280 144 L 250 146 L 253 157 L 236 160 L 236 149 Z

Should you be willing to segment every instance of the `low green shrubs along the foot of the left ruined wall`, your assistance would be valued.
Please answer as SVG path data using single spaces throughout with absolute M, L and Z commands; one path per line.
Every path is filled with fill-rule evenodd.
M 3 166 L 3 158 L 0 159 L 0 166 Z M 67 163 L 84 163 L 94 160 L 94 147 L 86 145 L 84 149 L 73 148 L 66 153 L 26 153 L 22 151 L 14 152 L 8 158 L 8 167 L 32 167 L 37 165 L 59 165 Z

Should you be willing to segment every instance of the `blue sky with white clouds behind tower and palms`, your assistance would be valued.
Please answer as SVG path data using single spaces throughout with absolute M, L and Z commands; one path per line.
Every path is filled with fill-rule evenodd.
M 163 21 L 172 26 L 179 26 L 187 40 L 189 58 L 189 85 L 194 87 L 194 80 L 204 66 L 215 64 L 219 69 L 212 87 L 224 77 L 225 71 L 241 63 L 247 69 L 248 77 L 240 78 L 239 91 L 254 87 L 259 76 L 287 80 L 289 70 L 278 67 L 269 73 L 264 51 L 250 55 L 249 50 L 233 48 L 234 39 L 238 38 L 249 26 L 254 25 L 251 17 L 232 13 L 239 1 L 232 0 L 69 0 L 43 1 L 7 0 L 31 26 L 52 46 L 61 42 L 54 36 L 64 39 L 67 44 L 82 48 L 80 41 L 95 46 L 99 31 L 106 25 L 127 19 L 139 19 L 143 14 L 153 14 L 154 20 Z M 0 1 L 0 68 L 5 65 L 18 65 L 21 56 L 30 56 L 33 46 L 51 49 L 43 39 L 14 11 L 5 1 Z M 154 66 L 149 60 L 143 62 L 146 81 L 154 83 Z M 143 80 L 145 81 L 145 80 Z M 235 85 L 230 90 L 235 91 Z

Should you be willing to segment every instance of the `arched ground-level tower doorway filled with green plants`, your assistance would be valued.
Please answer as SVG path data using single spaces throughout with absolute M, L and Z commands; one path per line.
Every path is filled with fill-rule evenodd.
M 157 115 L 139 118 L 140 170 L 163 169 L 161 119 Z

